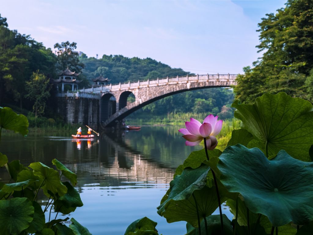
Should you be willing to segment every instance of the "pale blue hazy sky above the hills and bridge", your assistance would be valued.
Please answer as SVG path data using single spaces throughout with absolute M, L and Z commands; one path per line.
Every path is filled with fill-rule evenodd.
M 10 29 L 88 57 L 150 57 L 198 74 L 242 73 L 260 55 L 257 24 L 287 0 L 0 0 Z

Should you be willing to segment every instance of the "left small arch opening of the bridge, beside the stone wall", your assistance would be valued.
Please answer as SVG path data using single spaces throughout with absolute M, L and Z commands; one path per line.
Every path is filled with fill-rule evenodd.
M 116 99 L 111 93 L 106 93 L 100 100 L 100 122 L 104 122 L 116 113 Z

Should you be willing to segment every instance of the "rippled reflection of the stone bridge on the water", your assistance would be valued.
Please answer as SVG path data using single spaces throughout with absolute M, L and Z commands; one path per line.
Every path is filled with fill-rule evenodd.
M 147 159 L 121 139 L 113 140 L 106 134 L 103 134 L 100 139 L 97 162 L 74 164 L 71 168 L 75 172 L 89 172 L 89 177 L 91 176 L 99 183 L 106 182 L 114 186 L 141 182 L 168 184 L 173 179 L 175 171 L 173 168 Z M 84 174 L 85 180 L 87 180 L 86 177 L 88 176 Z M 90 180 L 87 181 L 90 182 Z

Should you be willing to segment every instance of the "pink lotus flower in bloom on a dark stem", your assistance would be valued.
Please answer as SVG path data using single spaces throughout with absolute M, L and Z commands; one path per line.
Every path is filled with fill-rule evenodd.
M 190 122 L 186 122 L 186 128 L 181 128 L 178 131 L 184 134 L 186 145 L 196 146 L 201 143 L 203 138 L 206 138 L 207 149 L 212 150 L 217 146 L 216 135 L 222 129 L 222 120 L 217 120 L 218 116 L 214 117 L 213 114 L 204 118 L 203 123 L 200 123 L 194 118 L 190 118 Z

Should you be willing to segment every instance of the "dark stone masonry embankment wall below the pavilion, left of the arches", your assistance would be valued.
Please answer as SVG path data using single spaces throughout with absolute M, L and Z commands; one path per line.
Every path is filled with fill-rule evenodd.
M 77 97 L 57 97 L 57 112 L 67 123 L 80 123 L 99 130 L 100 100 Z

